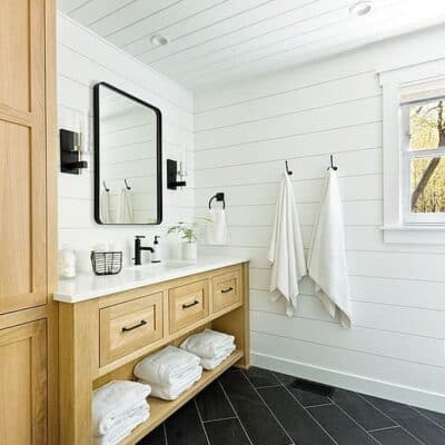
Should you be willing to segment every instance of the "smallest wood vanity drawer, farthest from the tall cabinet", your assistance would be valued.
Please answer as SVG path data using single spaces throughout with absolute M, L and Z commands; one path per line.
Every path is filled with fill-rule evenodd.
M 240 276 L 235 269 L 211 278 L 214 314 L 241 301 Z

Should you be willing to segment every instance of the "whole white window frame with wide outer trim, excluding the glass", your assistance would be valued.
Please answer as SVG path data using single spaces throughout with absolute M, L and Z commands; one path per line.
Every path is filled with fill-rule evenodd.
M 425 218 L 414 220 L 405 214 L 409 209 L 406 202 L 409 194 L 405 192 L 409 187 L 409 169 L 404 156 L 406 141 L 400 107 L 403 96 L 428 99 L 433 90 L 445 91 L 445 59 L 379 71 L 378 76 L 383 88 L 384 241 L 445 245 L 445 220 L 432 222 L 429 218 L 426 222 Z

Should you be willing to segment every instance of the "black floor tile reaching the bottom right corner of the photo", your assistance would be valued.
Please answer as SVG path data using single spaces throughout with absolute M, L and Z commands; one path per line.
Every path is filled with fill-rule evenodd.
M 396 423 L 407 429 L 413 436 L 426 445 L 444 445 L 445 429 L 441 428 L 428 418 L 418 414 L 414 408 L 383 398 L 364 396 L 378 409 L 388 415 Z

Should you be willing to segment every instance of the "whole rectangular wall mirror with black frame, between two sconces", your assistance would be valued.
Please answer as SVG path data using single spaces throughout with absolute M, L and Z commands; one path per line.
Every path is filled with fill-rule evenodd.
M 93 88 L 95 219 L 162 220 L 161 112 L 106 82 Z

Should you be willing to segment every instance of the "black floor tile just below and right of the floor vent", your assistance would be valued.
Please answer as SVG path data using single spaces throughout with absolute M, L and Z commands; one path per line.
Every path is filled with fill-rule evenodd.
M 395 426 L 390 418 L 375 409 L 356 393 L 336 389 L 330 398 L 367 431 Z

